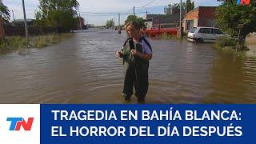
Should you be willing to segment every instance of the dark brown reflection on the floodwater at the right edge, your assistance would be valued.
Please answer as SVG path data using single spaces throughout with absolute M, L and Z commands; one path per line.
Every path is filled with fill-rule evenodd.
M 218 51 L 211 70 L 212 92 L 206 103 L 255 103 L 255 59 Z

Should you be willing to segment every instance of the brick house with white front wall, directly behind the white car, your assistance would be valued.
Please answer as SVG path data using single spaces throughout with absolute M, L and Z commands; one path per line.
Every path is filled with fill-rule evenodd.
M 199 6 L 188 12 L 182 22 L 184 31 L 197 26 L 214 27 L 216 8 L 216 6 Z

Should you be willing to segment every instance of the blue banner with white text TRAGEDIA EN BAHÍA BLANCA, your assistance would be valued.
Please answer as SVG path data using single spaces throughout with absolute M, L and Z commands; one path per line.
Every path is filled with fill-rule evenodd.
M 41 143 L 255 143 L 256 105 L 41 105 Z

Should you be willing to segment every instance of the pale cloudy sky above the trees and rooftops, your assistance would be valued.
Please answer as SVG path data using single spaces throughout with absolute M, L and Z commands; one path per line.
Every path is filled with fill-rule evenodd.
M 38 0 L 24 1 L 26 17 L 34 18 L 34 12 L 38 10 Z M 145 17 L 146 11 L 148 14 L 163 14 L 165 6 L 180 2 L 180 0 L 78 0 L 78 2 L 81 16 L 85 18 L 86 23 L 102 26 L 111 18 L 118 24 L 118 13 L 120 13 L 120 22 L 123 24 L 127 16 L 133 14 L 133 6 L 135 6 L 136 15 Z M 182 2 L 186 2 L 186 0 L 182 0 Z M 11 12 L 11 20 L 23 18 L 22 0 L 3 0 L 3 3 Z M 217 0 L 194 0 L 194 3 L 196 7 L 220 4 Z

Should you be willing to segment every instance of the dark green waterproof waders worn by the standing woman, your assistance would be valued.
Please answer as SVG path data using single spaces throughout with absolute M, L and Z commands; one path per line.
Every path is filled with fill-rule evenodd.
M 134 42 L 135 49 L 139 52 L 142 50 L 142 38 L 139 42 Z M 123 46 L 122 49 L 123 65 L 125 69 L 125 80 L 122 90 L 122 94 L 125 98 L 130 98 L 133 95 L 133 89 L 135 88 L 135 96 L 138 100 L 143 100 L 146 96 L 149 81 L 148 81 L 148 69 L 149 61 L 138 56 L 134 56 L 130 52 L 129 42 Z

